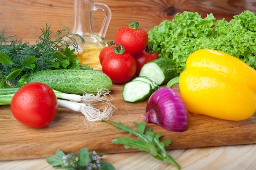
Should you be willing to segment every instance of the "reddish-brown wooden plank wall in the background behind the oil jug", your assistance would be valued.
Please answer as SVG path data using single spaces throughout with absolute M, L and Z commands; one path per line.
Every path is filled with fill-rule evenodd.
M 128 26 L 136 20 L 140 28 L 149 31 L 163 20 L 172 20 L 176 13 L 195 11 L 202 17 L 213 13 L 216 19 L 230 20 L 244 10 L 256 13 L 256 0 L 96 0 L 107 4 L 112 11 L 106 40 L 114 40 L 115 33 L 121 26 Z M 51 30 L 73 27 L 74 0 L 1 0 L 0 30 L 6 35 L 34 43 L 35 35 L 40 35 L 40 28 L 45 22 Z M 101 28 L 103 11 L 95 11 L 93 16 L 94 32 Z

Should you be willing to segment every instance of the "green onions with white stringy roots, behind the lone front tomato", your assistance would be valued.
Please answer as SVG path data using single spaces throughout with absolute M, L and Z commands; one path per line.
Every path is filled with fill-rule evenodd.
M 0 88 L 0 105 L 11 104 L 13 95 L 19 89 L 20 88 Z M 112 116 L 115 109 L 115 106 L 109 102 L 113 98 L 107 98 L 109 91 L 106 91 L 106 89 L 100 89 L 97 95 L 85 93 L 81 96 L 55 90 L 54 93 L 58 98 L 58 106 L 68 108 L 75 112 L 81 112 L 88 121 L 108 119 Z M 94 107 L 100 104 L 103 105 L 99 108 Z

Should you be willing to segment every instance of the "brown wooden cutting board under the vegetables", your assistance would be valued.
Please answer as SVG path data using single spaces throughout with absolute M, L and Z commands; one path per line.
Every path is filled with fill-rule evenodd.
M 146 102 L 128 103 L 121 96 L 123 85 L 113 85 L 112 104 L 117 108 L 109 120 L 121 121 L 135 128 L 133 121 L 144 121 Z M 179 91 L 177 85 L 174 89 Z M 225 146 L 256 143 L 256 114 L 244 121 L 227 121 L 204 115 L 189 115 L 189 127 L 185 132 L 171 132 L 156 124 L 146 124 L 155 133 L 161 132 L 161 140 L 171 139 L 166 149 Z M 85 123 L 87 125 L 85 125 Z M 45 158 L 57 149 L 65 153 L 78 152 L 86 147 L 98 153 L 135 152 L 126 150 L 112 139 L 131 137 L 115 130 L 107 122 L 85 121 L 84 115 L 60 108 L 54 121 L 45 128 L 29 128 L 20 124 L 11 114 L 10 106 L 0 106 L 0 160 Z

